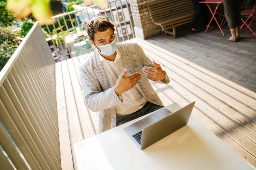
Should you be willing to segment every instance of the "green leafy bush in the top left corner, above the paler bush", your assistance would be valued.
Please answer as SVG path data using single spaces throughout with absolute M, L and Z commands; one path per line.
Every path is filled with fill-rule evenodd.
M 6 2 L 0 1 L 0 23 L 2 26 L 12 26 L 15 23 L 15 17 L 12 12 L 6 10 Z

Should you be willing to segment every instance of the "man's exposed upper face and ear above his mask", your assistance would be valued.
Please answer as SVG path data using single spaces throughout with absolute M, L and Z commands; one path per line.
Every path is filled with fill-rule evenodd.
M 111 28 L 108 28 L 104 32 L 97 31 L 94 34 L 94 42 L 96 45 L 93 43 L 92 40 L 89 40 L 89 42 L 91 45 L 95 46 L 100 51 L 99 45 L 110 44 L 114 39 L 115 39 L 114 31 Z

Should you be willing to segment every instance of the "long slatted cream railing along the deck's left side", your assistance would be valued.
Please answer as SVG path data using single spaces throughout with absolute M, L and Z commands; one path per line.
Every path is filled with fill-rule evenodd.
M 38 23 L 0 72 L 0 145 L 0 169 L 61 169 L 55 62 Z

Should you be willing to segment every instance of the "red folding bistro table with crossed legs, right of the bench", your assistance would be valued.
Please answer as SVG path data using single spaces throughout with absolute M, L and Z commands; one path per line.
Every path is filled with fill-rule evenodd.
M 218 13 L 218 12 L 216 12 L 217 9 L 218 9 L 218 6 L 219 6 L 221 3 L 223 3 L 223 0 L 204 0 L 204 1 L 201 1 L 201 2 L 199 2 L 199 3 L 206 3 L 206 5 L 208 6 L 209 10 L 210 10 L 211 13 L 212 13 L 212 19 L 214 18 L 214 20 L 215 20 L 216 23 L 218 24 L 218 27 L 219 27 L 220 30 L 221 30 L 222 35 L 224 36 L 225 34 L 223 33 L 223 31 L 222 31 L 222 29 L 221 29 L 221 26 L 222 26 L 222 23 L 223 23 L 223 20 L 224 20 L 225 17 L 224 17 L 223 14 L 220 14 L 220 15 L 223 16 L 223 19 L 222 19 L 222 21 L 221 21 L 221 25 L 219 25 L 218 21 L 217 21 L 216 18 L 215 18 L 215 14 Z M 208 5 L 209 3 L 215 3 L 215 4 L 217 4 L 214 13 L 213 13 L 213 11 L 211 10 L 210 6 Z M 219 13 L 218 13 L 218 14 L 219 14 Z M 207 26 L 205 32 L 208 30 L 209 25 L 212 23 L 212 19 L 210 20 L 210 22 L 209 22 L 209 24 L 208 24 L 208 26 Z

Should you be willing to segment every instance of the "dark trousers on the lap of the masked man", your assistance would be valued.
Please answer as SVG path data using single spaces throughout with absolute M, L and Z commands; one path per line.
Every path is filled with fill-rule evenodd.
M 131 120 L 137 119 L 153 111 L 157 111 L 160 108 L 163 108 L 163 106 L 155 105 L 151 102 L 146 102 L 143 108 L 141 108 L 139 111 L 136 111 L 129 115 L 116 117 L 116 126 L 122 125 L 126 122 L 130 122 Z

